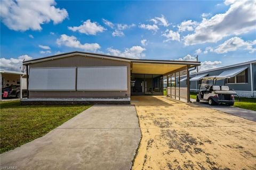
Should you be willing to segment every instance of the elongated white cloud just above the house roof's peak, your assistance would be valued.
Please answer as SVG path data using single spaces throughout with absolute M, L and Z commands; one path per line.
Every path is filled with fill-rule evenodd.
M 97 51 L 100 48 L 100 45 L 97 43 L 81 44 L 75 36 L 67 36 L 66 34 L 62 34 L 60 38 L 57 39 L 56 43 L 59 46 L 65 45 L 67 47 L 79 48 L 84 51 Z

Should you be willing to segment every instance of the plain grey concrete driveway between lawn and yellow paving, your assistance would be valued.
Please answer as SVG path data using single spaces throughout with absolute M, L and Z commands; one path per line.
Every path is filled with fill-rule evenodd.
M 130 169 L 141 138 L 134 106 L 93 106 L 1 155 L 18 169 Z

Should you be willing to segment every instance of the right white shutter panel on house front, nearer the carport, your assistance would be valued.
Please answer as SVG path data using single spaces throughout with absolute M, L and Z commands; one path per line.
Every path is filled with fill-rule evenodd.
M 127 67 L 77 68 L 77 91 L 127 91 Z

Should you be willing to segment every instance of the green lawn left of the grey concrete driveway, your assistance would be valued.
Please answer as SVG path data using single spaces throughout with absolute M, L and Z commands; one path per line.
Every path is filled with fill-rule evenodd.
M 89 107 L 20 106 L 20 101 L 1 102 L 0 152 L 45 135 Z

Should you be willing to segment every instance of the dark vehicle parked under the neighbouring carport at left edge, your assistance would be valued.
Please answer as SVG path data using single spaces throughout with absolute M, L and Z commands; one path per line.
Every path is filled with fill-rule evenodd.
M 4 92 L 7 92 L 7 98 L 20 98 L 20 86 L 12 85 L 5 88 L 2 88 L 2 98 L 4 96 Z M 27 90 L 22 89 L 22 96 L 27 96 Z

